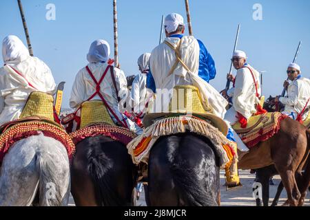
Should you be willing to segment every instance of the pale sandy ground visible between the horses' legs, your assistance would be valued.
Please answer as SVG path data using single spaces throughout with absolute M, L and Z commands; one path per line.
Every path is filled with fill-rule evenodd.
M 252 186 L 254 183 L 255 175 L 249 173 L 249 170 L 239 170 L 240 181 L 243 185 L 235 190 L 226 190 L 224 172 L 220 172 L 220 198 L 221 206 L 256 206 L 255 199 L 252 197 Z M 269 187 L 269 206 L 271 205 L 273 197 L 276 195 L 278 184 L 280 183 L 280 176 L 276 175 L 273 177 L 274 186 Z M 279 204 L 281 205 L 287 200 L 287 193 L 285 190 L 282 191 Z M 69 206 L 74 206 L 74 200 L 70 196 Z M 137 200 L 137 206 L 146 206 L 144 190 L 141 193 L 140 199 Z M 310 193 L 307 193 L 307 199 L 305 199 L 304 206 L 310 206 Z

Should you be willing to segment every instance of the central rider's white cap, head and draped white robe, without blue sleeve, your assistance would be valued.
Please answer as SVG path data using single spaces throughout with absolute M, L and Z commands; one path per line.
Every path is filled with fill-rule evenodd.
M 214 87 L 198 76 L 199 43 L 194 36 L 183 36 L 184 30 L 183 17 L 180 14 L 172 13 L 165 18 L 165 32 L 167 36 L 165 41 L 174 48 L 178 47 L 180 60 L 183 61 L 184 65 L 181 65 L 179 62 L 173 69 L 177 58 L 174 50 L 167 43 L 161 43 L 154 48 L 149 58 L 149 67 L 156 85 L 156 100 L 164 101 L 161 104 L 155 100 L 152 110 L 167 111 L 169 100 L 172 97 L 172 89 L 176 85 L 194 85 L 198 87 L 205 107 L 209 103 L 214 110 L 214 114 L 224 118 L 226 113 L 225 107 L 228 102 L 223 96 L 220 96 Z M 158 96 L 162 97 L 158 98 Z M 165 100 L 165 98 L 168 98 L 168 100 Z M 160 104 L 161 107 L 158 107 L 156 104 Z

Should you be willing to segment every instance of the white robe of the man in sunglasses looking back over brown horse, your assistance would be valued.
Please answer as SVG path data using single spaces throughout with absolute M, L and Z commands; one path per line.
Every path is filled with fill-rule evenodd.
M 251 68 L 254 74 L 256 85 L 258 87 L 258 94 L 260 96 L 260 74 L 250 65 L 247 65 L 247 67 Z M 225 116 L 225 119 L 232 124 L 237 121 L 236 117 L 234 117 L 236 116 L 236 111 L 249 119 L 253 113 L 256 113 L 256 104 L 259 103 L 259 99 L 256 97 L 254 80 L 247 67 L 238 69 L 235 87 L 232 87 L 227 91 L 227 95 L 233 98 L 233 107 L 231 107 L 231 110 L 229 109 L 229 112 L 227 112 L 228 115 Z M 232 113 L 232 111 L 235 111 L 235 113 Z M 232 120 L 235 121 L 232 122 Z

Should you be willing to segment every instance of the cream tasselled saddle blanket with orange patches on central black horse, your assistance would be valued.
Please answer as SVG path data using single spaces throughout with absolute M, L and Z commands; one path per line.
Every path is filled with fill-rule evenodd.
M 193 115 L 178 115 L 158 119 L 148 126 L 141 135 L 127 144 L 128 153 L 134 164 L 148 163 L 149 152 L 159 137 L 176 133 L 192 132 L 207 137 L 220 158 L 220 168 L 231 164 L 234 157 L 238 157 L 229 141 L 216 127 L 207 120 L 196 118 Z

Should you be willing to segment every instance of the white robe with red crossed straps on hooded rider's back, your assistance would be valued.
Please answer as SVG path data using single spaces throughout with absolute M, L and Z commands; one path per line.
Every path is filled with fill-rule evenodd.
M 89 63 L 88 67 L 90 71 L 94 75 L 97 81 L 103 75 L 103 72 L 107 68 L 107 63 Z M 121 69 L 114 67 L 114 78 L 116 87 L 118 89 L 118 96 L 123 102 L 127 101 L 128 98 L 128 89 L 127 89 L 127 80 L 124 72 Z M 125 115 L 121 113 L 121 111 L 125 110 L 122 108 L 122 104 L 118 104 L 116 89 L 113 84 L 112 76 L 110 74 L 110 69 L 108 69 L 105 78 L 103 79 L 101 85 L 101 94 L 105 98 L 107 104 L 111 107 L 114 113 L 117 115 L 119 120 L 125 118 Z M 96 92 L 96 84 L 94 80 L 92 80 L 90 74 L 88 74 L 85 67 L 83 67 L 78 74 L 76 74 L 76 78 L 74 80 L 74 84 L 72 86 L 71 97 L 70 97 L 70 107 L 78 108 L 82 102 L 86 101 L 92 94 Z M 100 96 L 96 94 L 92 100 L 101 100 Z M 123 103 L 122 102 L 122 103 Z M 110 113 L 112 120 L 116 123 L 117 120 L 114 118 L 112 113 Z M 138 126 L 132 122 L 131 120 L 126 119 L 127 126 L 132 131 L 140 130 Z

